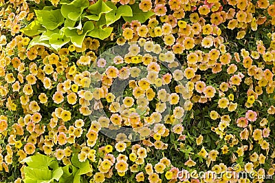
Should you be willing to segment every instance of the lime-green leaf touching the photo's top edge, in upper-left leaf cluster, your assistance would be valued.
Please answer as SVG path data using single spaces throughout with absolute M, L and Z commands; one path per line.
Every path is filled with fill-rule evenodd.
M 77 21 L 85 8 L 89 7 L 88 0 L 74 0 L 71 3 L 63 2 L 61 13 L 66 19 Z

